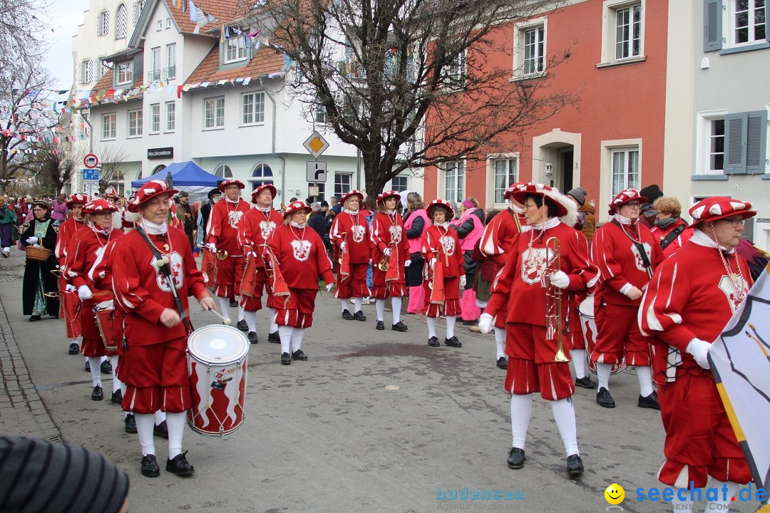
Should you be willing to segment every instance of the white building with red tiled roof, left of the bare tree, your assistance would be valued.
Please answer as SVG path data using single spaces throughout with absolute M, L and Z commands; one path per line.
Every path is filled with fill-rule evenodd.
M 126 191 L 132 180 L 192 160 L 249 190 L 273 182 L 280 203 L 309 196 L 314 159 L 303 142 L 318 128 L 329 143 L 318 159 L 327 168 L 319 199 L 361 188 L 356 148 L 322 132 L 291 101 L 282 53 L 236 35 L 238 3 L 195 2 L 216 20 L 196 30 L 188 2 L 146 0 L 127 48 L 105 58 L 110 69 L 92 88 L 95 153 L 119 155 Z M 222 37 L 223 24 L 233 26 L 232 37 Z M 409 173 L 390 185 L 422 192 L 422 179 Z

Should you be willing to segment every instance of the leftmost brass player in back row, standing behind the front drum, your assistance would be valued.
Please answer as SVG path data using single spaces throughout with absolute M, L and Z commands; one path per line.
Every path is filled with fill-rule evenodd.
M 225 180 L 219 184 L 225 199 L 213 205 L 206 227 L 209 241 L 206 248 L 213 253 L 227 252 L 227 258 L 216 261 L 214 281 L 214 295 L 219 297 L 219 308 L 226 319 L 230 318 L 229 298 L 239 299 L 237 296 L 240 295 L 240 282 L 243 278 L 243 248 L 238 244 L 238 225 L 243 215 L 249 212 L 249 203 L 240 198 L 244 187 L 239 180 Z M 249 331 L 245 317 L 243 304 L 239 301 L 237 327 L 241 331 Z

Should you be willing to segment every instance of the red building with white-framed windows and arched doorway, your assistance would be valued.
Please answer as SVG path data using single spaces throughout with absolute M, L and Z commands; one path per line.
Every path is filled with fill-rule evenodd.
M 504 206 L 512 182 L 562 192 L 579 185 L 606 220 L 605 206 L 617 192 L 662 186 L 668 1 L 567 3 L 493 32 L 507 49 L 487 62 L 511 66 L 500 87 L 527 87 L 541 77 L 545 92 L 574 92 L 577 102 L 521 134 L 504 135 L 494 151 L 427 168 L 427 201 L 474 196 L 491 209 Z M 567 50 L 566 61 L 548 68 Z

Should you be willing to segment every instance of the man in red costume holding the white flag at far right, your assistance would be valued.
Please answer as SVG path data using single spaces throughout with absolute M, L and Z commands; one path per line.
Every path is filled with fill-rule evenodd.
M 738 246 L 752 204 L 706 198 L 690 208 L 693 235 L 655 271 L 644 292 L 638 322 L 654 335 L 654 371 L 666 431 L 658 479 L 675 488 L 728 488 L 706 511 L 727 511 L 740 485 L 752 480 L 714 377 L 708 350 L 738 305 L 751 275 Z M 687 494 L 687 498 L 690 494 Z M 692 511 L 676 497 L 674 511 Z

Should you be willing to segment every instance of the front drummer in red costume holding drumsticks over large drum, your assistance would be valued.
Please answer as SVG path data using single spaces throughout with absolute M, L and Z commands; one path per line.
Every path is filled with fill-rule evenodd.
M 125 315 L 127 344 L 120 369 L 126 382 L 122 407 L 134 412 L 142 475 L 147 477 L 160 475 L 152 438 L 157 410 L 166 411 L 169 431 L 166 471 L 176 475 L 195 471 L 186 453 L 182 454 L 185 411 L 192 405 L 192 396 L 185 355 L 190 327 L 179 311 L 189 312 L 190 295 L 204 311 L 214 309 L 187 236 L 166 222 L 169 198 L 175 192 L 161 180 L 142 185 L 129 203 L 132 212 L 139 211 L 137 229 L 122 237 L 113 256 L 112 288 L 115 303 Z M 170 270 L 169 277 L 162 266 Z

